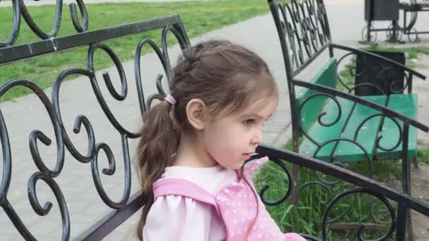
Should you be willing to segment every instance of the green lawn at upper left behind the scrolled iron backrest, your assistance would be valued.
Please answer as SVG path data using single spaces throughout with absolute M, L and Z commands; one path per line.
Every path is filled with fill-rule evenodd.
M 124 23 L 133 23 L 150 18 L 168 16 L 174 13 L 181 14 L 181 20 L 188 37 L 202 35 L 205 32 L 216 30 L 225 25 L 267 13 L 269 8 L 263 0 L 234 0 L 234 1 L 186 1 L 163 3 L 126 3 L 126 4 L 87 4 L 90 21 L 90 30 L 111 27 Z M 44 32 L 50 32 L 54 19 L 54 6 L 28 7 L 28 10 L 37 25 Z M 58 36 L 75 34 L 68 6 L 64 5 L 64 13 Z M 11 32 L 11 8 L 0 8 L 0 39 L 8 38 Z M 114 39 L 106 44 L 111 47 L 119 59 L 129 61 L 134 58 L 135 47 L 141 39 L 153 39 L 160 44 L 161 31 L 155 30 L 140 35 L 132 35 L 121 39 Z M 169 44 L 175 43 L 174 37 L 168 39 Z M 40 39 L 30 30 L 25 20 L 21 19 L 20 34 L 15 45 L 37 42 Z M 56 76 L 67 68 L 87 68 L 87 47 L 49 56 L 40 56 L 28 61 L 13 63 L 0 67 L 0 85 L 14 78 L 31 80 L 45 89 L 51 87 Z M 95 69 L 101 70 L 113 66 L 113 62 L 99 51 L 95 55 Z M 27 88 L 18 87 L 8 91 L 0 101 L 15 99 L 29 94 Z

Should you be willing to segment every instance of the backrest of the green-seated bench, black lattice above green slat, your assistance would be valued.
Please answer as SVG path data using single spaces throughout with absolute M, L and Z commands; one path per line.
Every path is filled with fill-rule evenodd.
M 307 105 L 301 111 L 306 113 L 306 116 L 300 116 L 298 111 L 302 102 L 314 92 L 310 89 L 301 89 L 296 93 L 293 81 L 296 75 L 332 44 L 327 13 L 323 0 L 268 0 L 268 4 L 282 47 L 292 111 L 293 139 L 298 140 L 298 136 L 301 135 L 298 123 L 301 121 L 303 131 L 306 131 L 327 101 L 326 97 L 318 98 L 317 104 Z M 327 87 L 336 87 L 337 61 L 334 58 L 330 59 L 310 81 Z M 294 143 L 294 149 L 298 150 L 298 143 Z

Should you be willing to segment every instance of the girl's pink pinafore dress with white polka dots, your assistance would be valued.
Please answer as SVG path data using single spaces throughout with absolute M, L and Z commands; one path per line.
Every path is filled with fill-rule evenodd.
M 244 168 L 244 175 L 250 183 L 252 180 L 250 171 L 267 161 L 268 159 L 265 157 L 253 161 Z M 239 172 L 238 175 L 240 175 Z M 253 191 L 243 178 L 240 178 L 238 182 L 223 185 L 216 194 L 207 192 L 203 187 L 181 178 L 160 178 L 154 183 L 153 188 L 155 199 L 174 195 L 192 199 L 200 203 L 201 206 L 206 206 L 206 209 L 210 209 L 211 206 L 224 226 L 222 230 L 224 237 L 220 240 L 244 240 L 245 235 L 248 233 L 247 229 L 255 218 L 257 201 Z M 303 237 L 296 233 L 282 233 L 270 214 L 268 214 L 259 196 L 258 202 L 258 217 L 250 230 L 248 240 L 305 241 Z M 150 222 L 150 220 L 147 220 L 147 222 Z

